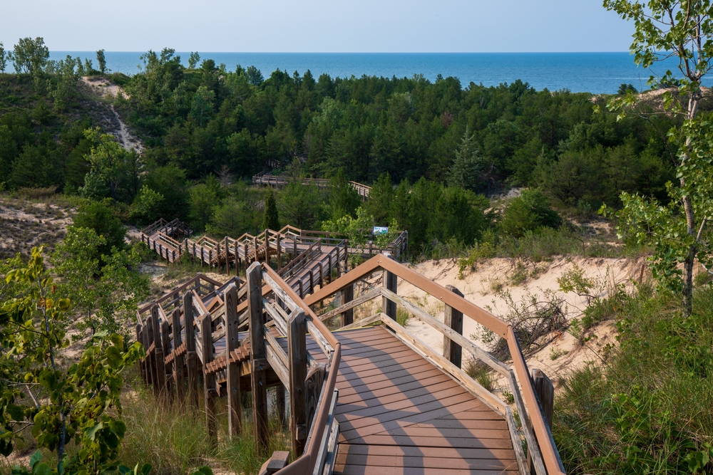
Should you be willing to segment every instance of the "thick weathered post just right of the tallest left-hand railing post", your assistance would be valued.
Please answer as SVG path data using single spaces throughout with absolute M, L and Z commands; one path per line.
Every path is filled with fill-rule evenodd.
M 287 328 L 289 358 L 289 433 L 292 435 L 292 454 L 302 455 L 307 442 L 307 319 L 301 308 L 294 311 Z

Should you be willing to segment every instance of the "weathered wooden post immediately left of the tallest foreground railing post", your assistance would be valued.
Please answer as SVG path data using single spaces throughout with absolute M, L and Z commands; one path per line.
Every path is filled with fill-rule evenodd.
M 227 248 L 226 248 L 227 249 Z M 240 364 L 230 362 L 230 353 L 237 350 L 240 340 L 237 334 L 237 290 L 235 286 L 223 293 L 225 302 L 225 362 L 227 385 L 227 428 L 230 437 L 240 436 L 242 431 L 242 408 L 240 407 Z

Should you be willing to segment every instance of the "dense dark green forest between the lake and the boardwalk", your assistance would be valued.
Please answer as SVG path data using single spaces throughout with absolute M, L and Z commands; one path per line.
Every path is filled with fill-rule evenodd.
M 473 244 L 496 225 L 488 198 L 510 187 L 541 189 L 548 204 L 588 216 L 602 203 L 617 207 L 622 191 L 665 202 L 674 177 L 673 118 L 617 121 L 595 113 L 605 99 L 588 93 L 520 80 L 484 87 L 279 70 L 264 78 L 198 53 L 185 67 L 168 48 L 145 53 L 144 71 L 128 77 L 107 71 L 103 51 L 95 69 L 86 58 L 49 61 L 41 38 L 26 39 L 12 58 L 16 73 L 0 75 L 0 182 L 108 198 L 137 224 L 179 217 L 216 236 L 260 231 L 264 192 L 245 180 L 270 163 L 275 173 L 335 182 L 278 191 L 282 224 L 319 229 L 356 217 L 352 179 L 375 185 L 364 205 L 374 224 L 408 229 L 419 253 Z M 124 93 L 92 100 L 83 75 Z M 138 132 L 141 155 L 92 128 L 103 125 L 101 107 Z

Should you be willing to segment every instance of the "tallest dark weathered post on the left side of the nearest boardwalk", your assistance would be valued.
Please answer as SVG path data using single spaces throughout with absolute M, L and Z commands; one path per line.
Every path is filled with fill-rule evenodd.
M 256 253 L 257 254 L 257 253 Z M 262 317 L 262 266 L 254 262 L 247 269 L 247 308 L 250 327 L 250 376 L 252 379 L 252 421 L 255 438 L 267 448 L 267 349 L 265 348 L 265 321 Z

